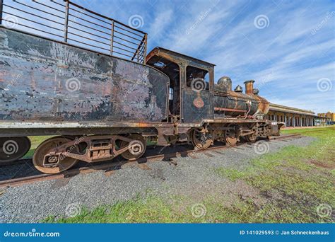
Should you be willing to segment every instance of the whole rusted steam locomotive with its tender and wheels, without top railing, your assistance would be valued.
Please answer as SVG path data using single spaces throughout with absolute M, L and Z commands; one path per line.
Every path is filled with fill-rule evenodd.
M 158 145 L 278 134 L 264 116 L 269 102 L 245 81 L 214 83 L 214 64 L 160 47 L 145 64 L 0 27 L 0 160 L 30 149 L 28 136 L 52 135 L 35 149 L 43 173 L 77 161 L 138 159 L 148 140 Z

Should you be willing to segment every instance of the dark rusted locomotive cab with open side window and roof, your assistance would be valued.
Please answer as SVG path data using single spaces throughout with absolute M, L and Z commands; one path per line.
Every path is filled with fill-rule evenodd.
M 160 47 L 148 54 L 146 64 L 170 78 L 170 121 L 200 122 L 213 118 L 214 64 Z

